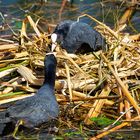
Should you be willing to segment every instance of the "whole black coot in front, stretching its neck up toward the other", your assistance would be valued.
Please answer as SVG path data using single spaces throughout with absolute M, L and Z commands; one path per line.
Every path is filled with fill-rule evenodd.
M 14 124 L 18 120 L 23 120 L 25 127 L 32 128 L 58 117 L 59 107 L 54 94 L 57 65 L 55 56 L 53 54 L 46 56 L 44 65 L 45 80 L 42 87 L 34 96 L 19 100 L 10 106 L 6 110 L 5 120 Z M 2 118 L 4 117 L 2 116 Z M 4 126 L 1 121 L 0 127 Z M 0 130 L 2 131 L 2 129 Z

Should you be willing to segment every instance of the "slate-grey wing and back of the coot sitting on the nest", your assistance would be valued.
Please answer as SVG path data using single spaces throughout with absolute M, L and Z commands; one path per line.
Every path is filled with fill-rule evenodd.
M 64 40 L 64 48 L 75 53 L 82 43 L 87 43 L 95 50 L 96 32 L 87 24 L 74 22 L 71 24 L 67 37 Z M 85 48 L 86 49 L 86 48 Z

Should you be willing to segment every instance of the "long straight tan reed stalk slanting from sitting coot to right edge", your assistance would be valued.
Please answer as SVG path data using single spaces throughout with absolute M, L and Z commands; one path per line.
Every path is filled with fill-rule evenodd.
M 120 77 L 116 74 L 116 72 L 114 71 L 114 69 L 112 68 L 111 64 L 109 63 L 109 61 L 107 60 L 107 58 L 105 57 L 105 55 L 103 53 L 101 53 L 101 57 L 105 60 L 108 68 L 110 69 L 110 71 L 112 72 L 112 74 L 114 75 L 116 81 L 118 82 L 118 84 L 120 85 L 124 95 L 128 98 L 128 100 L 130 101 L 130 103 L 134 106 L 134 108 L 136 109 L 137 113 L 140 114 L 140 108 L 137 104 L 137 102 L 134 100 L 134 98 L 131 96 L 131 93 L 128 91 L 128 89 L 125 87 L 124 83 L 122 82 L 122 80 L 120 79 Z

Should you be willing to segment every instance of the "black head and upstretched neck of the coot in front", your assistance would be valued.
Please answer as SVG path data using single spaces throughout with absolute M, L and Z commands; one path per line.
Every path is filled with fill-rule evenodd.
M 45 82 L 54 86 L 57 60 L 53 54 L 46 55 L 44 60 Z

